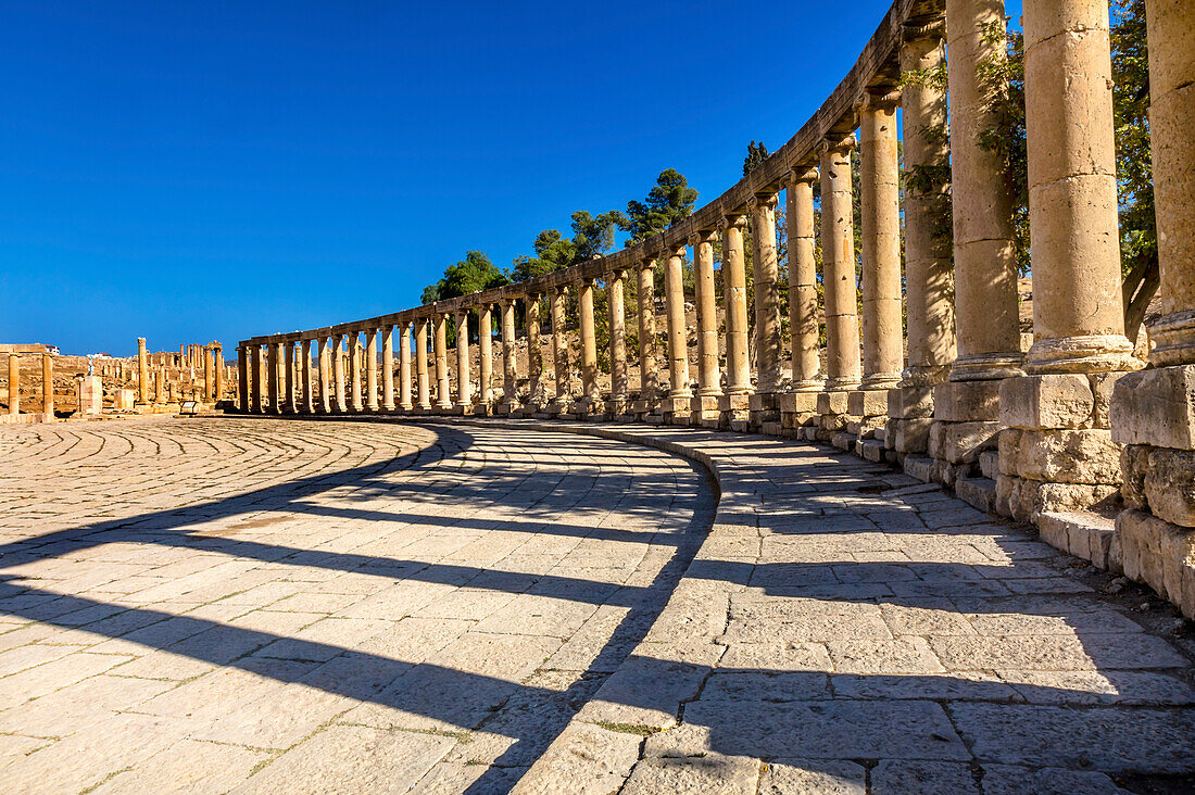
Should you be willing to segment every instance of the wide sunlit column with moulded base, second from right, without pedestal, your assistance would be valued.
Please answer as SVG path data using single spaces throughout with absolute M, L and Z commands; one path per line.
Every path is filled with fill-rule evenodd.
M 1035 340 L 1025 371 L 1126 369 L 1108 0 L 1027 0 L 1024 30 Z

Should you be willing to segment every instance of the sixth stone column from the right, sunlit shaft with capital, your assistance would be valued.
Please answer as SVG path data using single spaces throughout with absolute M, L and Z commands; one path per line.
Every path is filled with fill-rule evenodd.
M 851 190 L 851 149 L 854 139 L 823 142 L 822 283 L 826 293 L 827 391 L 859 386 L 859 316 L 854 292 L 854 221 Z

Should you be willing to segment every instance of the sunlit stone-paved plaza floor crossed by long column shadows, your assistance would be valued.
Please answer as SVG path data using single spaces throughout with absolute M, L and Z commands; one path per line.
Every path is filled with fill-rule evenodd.
M 836 451 L 163 418 L 0 461 L 4 793 L 1195 787 L 1169 606 Z

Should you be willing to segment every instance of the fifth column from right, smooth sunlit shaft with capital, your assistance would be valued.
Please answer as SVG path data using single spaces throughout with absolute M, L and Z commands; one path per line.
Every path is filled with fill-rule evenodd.
M 863 389 L 896 386 L 905 365 L 900 273 L 899 94 L 869 94 L 860 116 Z

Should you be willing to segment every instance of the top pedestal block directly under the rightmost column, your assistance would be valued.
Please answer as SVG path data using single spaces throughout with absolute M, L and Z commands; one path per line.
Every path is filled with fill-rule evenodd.
M 1195 365 L 1126 373 L 1113 387 L 1113 439 L 1195 450 Z

